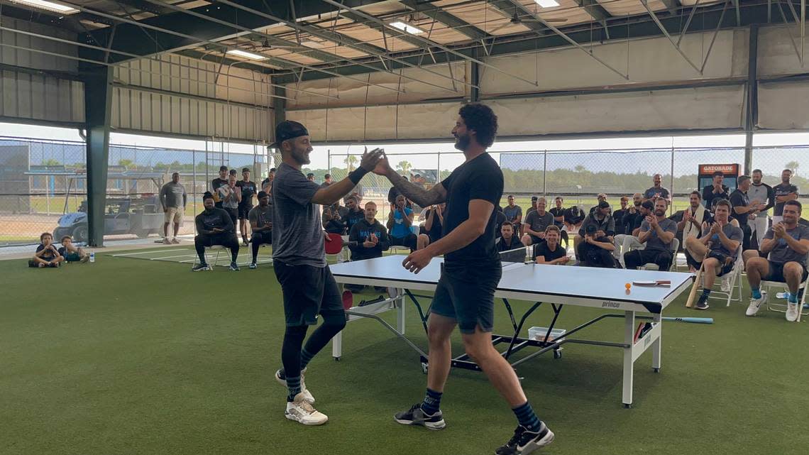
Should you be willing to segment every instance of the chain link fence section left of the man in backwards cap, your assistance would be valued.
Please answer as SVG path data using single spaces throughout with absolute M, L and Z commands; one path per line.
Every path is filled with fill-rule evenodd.
M 180 173 L 188 194 L 180 235 L 193 234 L 193 217 L 219 166 L 252 171 L 260 181 L 269 170 L 266 147 L 230 151 L 227 142 L 205 142 L 205 150 L 109 147 L 104 239 L 163 236 L 161 187 Z M 244 147 L 240 147 L 244 149 Z M 248 147 L 250 148 L 250 147 Z M 38 243 L 43 232 L 87 239 L 87 161 L 83 142 L 0 138 L 0 246 Z

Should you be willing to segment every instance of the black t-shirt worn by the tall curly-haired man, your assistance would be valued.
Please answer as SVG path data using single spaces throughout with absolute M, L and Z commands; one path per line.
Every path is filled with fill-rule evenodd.
M 498 201 L 503 194 L 503 173 L 497 161 L 488 153 L 482 153 L 455 168 L 441 185 L 447 189 L 443 236 L 469 219 L 469 201 L 483 199 L 495 207 L 483 234 L 464 248 L 447 253 L 445 262 L 472 267 L 499 266 L 500 256 L 494 247 L 497 238 L 497 215 L 494 212 L 498 211 Z

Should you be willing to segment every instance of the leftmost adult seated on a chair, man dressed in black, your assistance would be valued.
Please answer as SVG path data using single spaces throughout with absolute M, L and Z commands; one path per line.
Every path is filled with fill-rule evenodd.
M 205 247 L 222 245 L 231 249 L 231 270 L 239 270 L 236 258 L 239 257 L 239 240 L 236 240 L 235 224 L 231 215 L 223 209 L 214 207 L 214 196 L 205 193 L 202 196 L 202 205 L 205 210 L 197 215 L 194 223 L 197 225 L 197 236 L 194 237 L 194 249 L 200 263 L 193 267 L 193 271 L 211 270 L 205 262 Z

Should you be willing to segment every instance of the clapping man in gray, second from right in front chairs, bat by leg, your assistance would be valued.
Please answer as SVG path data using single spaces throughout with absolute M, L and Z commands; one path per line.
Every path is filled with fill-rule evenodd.
M 686 209 L 685 213 L 690 213 L 690 210 Z M 716 277 L 730 273 L 736 262 L 735 254 L 741 245 L 742 230 L 731 224 L 730 215 L 731 203 L 721 199 L 716 203 L 715 221 L 702 223 L 701 236 L 684 236 L 686 253 L 692 257 L 697 268 L 703 267 L 704 281 L 697 309 L 708 309 L 708 297 Z M 686 223 L 693 223 L 693 219 Z

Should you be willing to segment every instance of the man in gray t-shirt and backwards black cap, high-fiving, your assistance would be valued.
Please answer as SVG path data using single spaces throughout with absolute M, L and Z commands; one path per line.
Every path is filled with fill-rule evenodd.
M 330 206 L 348 194 L 383 156 L 380 150 L 362 155 L 360 167 L 342 181 L 320 186 L 301 172 L 312 151 L 309 132 L 297 121 L 282 121 L 275 129 L 275 143 L 282 164 L 273 180 L 273 269 L 284 299 L 286 332 L 281 351 L 284 368 L 275 378 L 286 386 L 287 419 L 304 425 L 322 425 L 328 418 L 311 405 L 315 402 L 303 383 L 309 360 L 345 327 L 342 296 L 326 265 L 324 232 L 318 205 Z M 306 346 L 309 325 L 323 324 Z

